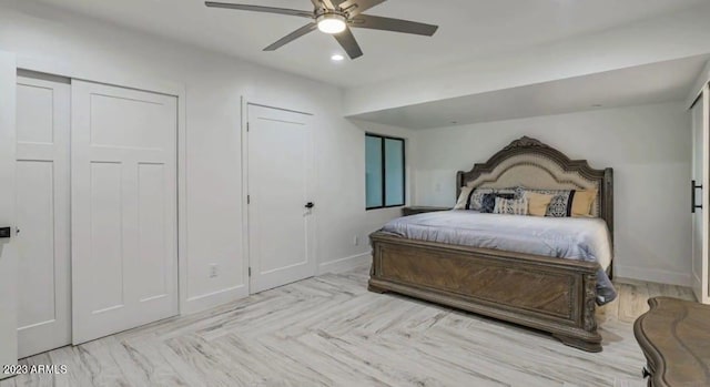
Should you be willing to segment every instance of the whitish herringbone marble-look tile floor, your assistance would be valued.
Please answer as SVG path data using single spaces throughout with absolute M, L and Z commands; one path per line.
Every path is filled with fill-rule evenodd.
M 604 352 L 393 294 L 366 291 L 367 267 L 326 274 L 197 315 L 22 359 L 67 365 L 16 386 L 645 386 L 632 333 L 649 296 L 688 288 L 618 284 L 598 309 Z

